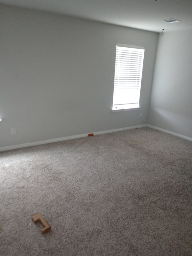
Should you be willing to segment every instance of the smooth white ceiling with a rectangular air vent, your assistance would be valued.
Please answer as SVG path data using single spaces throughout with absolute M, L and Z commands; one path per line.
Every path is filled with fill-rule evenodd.
M 155 32 L 192 29 L 192 0 L 0 0 L 0 3 Z M 182 22 L 162 21 L 170 18 Z

